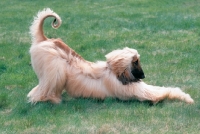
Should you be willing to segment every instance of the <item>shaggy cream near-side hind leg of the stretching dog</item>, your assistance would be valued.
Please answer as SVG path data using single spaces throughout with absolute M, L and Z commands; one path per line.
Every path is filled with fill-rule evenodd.
M 42 68 L 43 71 L 37 72 L 39 84 L 27 95 L 31 103 L 48 100 L 53 103 L 61 101 L 62 90 L 66 83 L 66 61 L 59 58 L 52 58 L 50 61 L 48 66 Z

